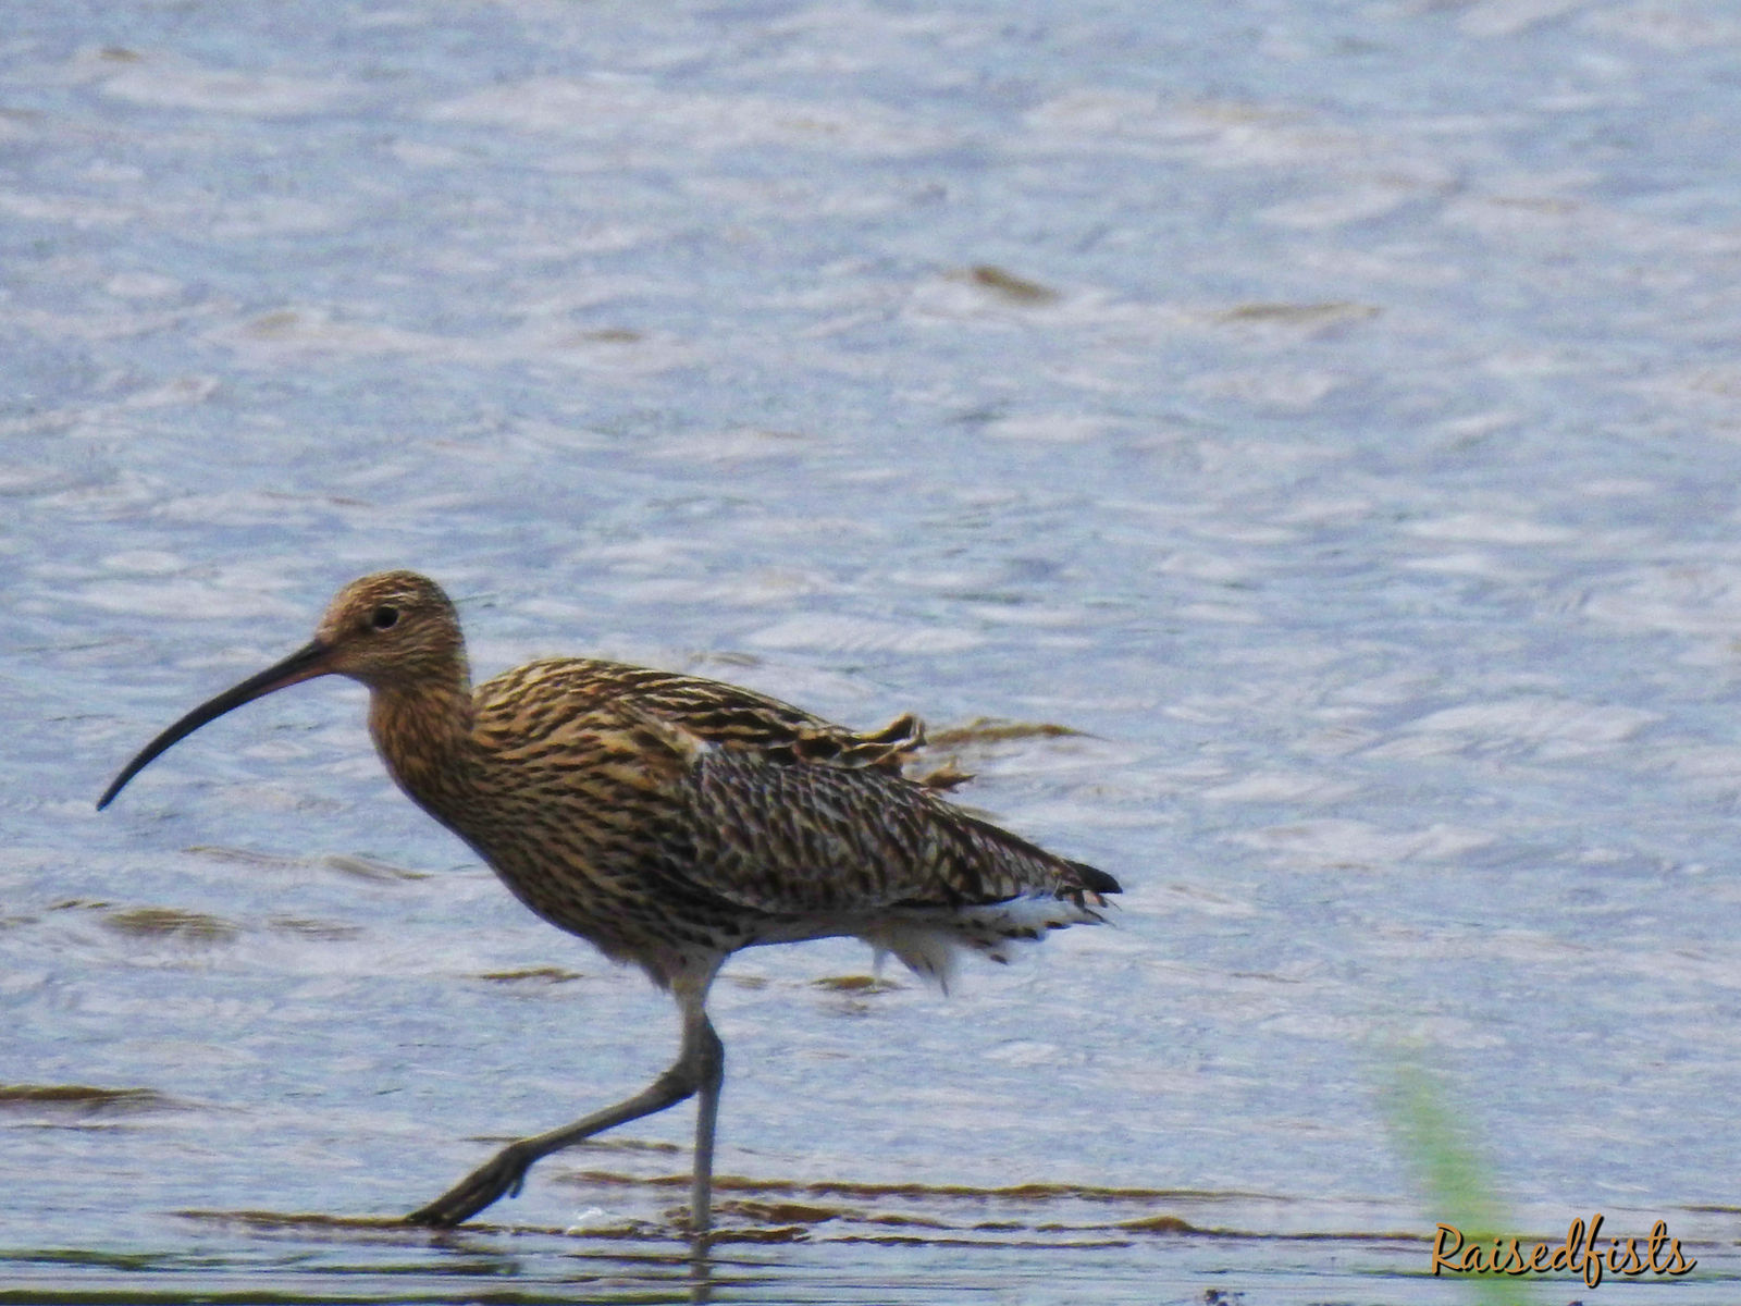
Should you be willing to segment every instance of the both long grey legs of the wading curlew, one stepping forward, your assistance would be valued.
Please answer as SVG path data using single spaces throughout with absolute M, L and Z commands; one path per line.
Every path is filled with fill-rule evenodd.
M 707 977 L 709 980 L 712 975 Z M 630 1120 L 651 1116 L 676 1106 L 686 1097 L 702 1094 L 702 1116 L 705 1121 L 705 1156 L 700 1151 L 703 1128 L 696 1127 L 696 1158 L 693 1219 L 695 1229 L 707 1229 L 707 1202 L 712 1188 L 712 1149 L 714 1149 L 714 1113 L 719 1106 L 719 1081 L 724 1074 L 724 1047 L 714 1033 L 714 1026 L 702 1010 L 707 998 L 707 984 L 674 984 L 677 1001 L 682 1005 L 682 1047 L 677 1060 L 653 1083 L 634 1097 L 627 1097 L 602 1111 L 576 1120 L 573 1125 L 554 1128 L 548 1134 L 536 1134 L 529 1139 L 515 1139 L 498 1151 L 465 1179 L 449 1188 L 427 1207 L 420 1207 L 406 1215 L 406 1224 L 425 1224 L 430 1228 L 451 1228 L 481 1212 L 510 1193 L 519 1193 L 526 1172 L 533 1161 L 548 1156 L 562 1148 L 571 1148 L 581 1139 L 602 1134 Z

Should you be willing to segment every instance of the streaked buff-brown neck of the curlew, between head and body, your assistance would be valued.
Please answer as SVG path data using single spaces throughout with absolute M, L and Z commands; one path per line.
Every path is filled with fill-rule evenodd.
M 451 824 L 474 784 L 472 690 L 465 677 L 369 691 L 369 735 L 400 789 Z

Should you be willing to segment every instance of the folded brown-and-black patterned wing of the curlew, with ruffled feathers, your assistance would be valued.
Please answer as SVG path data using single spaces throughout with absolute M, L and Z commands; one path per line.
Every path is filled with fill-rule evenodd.
M 521 667 L 477 702 L 503 754 L 554 775 L 588 759 L 561 784 L 644 813 L 639 874 L 677 892 L 851 916 L 1118 888 L 938 798 L 952 780 L 905 777 L 924 738 L 911 716 L 855 733 L 752 690 L 588 660 Z

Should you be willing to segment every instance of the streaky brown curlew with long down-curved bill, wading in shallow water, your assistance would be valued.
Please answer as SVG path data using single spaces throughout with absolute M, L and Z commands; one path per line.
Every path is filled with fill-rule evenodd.
M 411 799 L 552 925 L 632 961 L 682 1017 L 677 1060 L 639 1094 L 517 1139 L 406 1217 L 446 1228 L 517 1193 L 554 1151 L 696 1099 L 689 1228 L 709 1231 L 724 1047 L 707 989 L 742 947 L 857 935 L 945 982 L 956 954 L 1095 923 L 1118 881 L 947 803 L 958 771 L 904 775 L 912 716 L 855 733 L 696 676 L 552 658 L 475 690 L 453 603 L 413 571 L 338 592 L 313 641 L 151 740 L 317 676 L 369 688 L 369 733 Z

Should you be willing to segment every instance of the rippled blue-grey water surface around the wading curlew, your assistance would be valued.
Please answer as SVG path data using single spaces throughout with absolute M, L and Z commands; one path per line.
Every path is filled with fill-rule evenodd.
M 1738 56 L 1717 0 L 9 5 L 0 1301 L 1461 1301 L 1442 1144 L 1734 1301 Z M 355 686 L 92 810 L 383 566 L 484 674 L 919 710 L 1116 923 L 947 1000 L 735 959 L 707 1287 L 677 1111 L 393 1229 L 669 1000 Z

